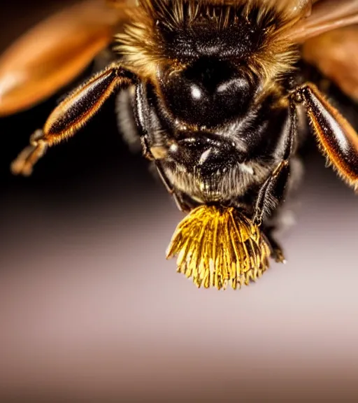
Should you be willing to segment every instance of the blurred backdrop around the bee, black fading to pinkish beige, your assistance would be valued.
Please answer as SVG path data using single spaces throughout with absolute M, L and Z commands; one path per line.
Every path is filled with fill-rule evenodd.
M 3 2 L 0 50 L 64 3 Z M 59 96 L 0 120 L 0 401 L 356 402 L 358 200 L 313 142 L 287 265 L 197 290 L 165 260 L 182 214 L 124 145 L 114 99 L 10 175 Z

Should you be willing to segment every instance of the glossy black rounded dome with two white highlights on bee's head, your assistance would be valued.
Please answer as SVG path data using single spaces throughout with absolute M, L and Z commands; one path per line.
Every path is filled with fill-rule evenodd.
M 228 62 L 203 59 L 162 81 L 164 101 L 176 118 L 213 127 L 245 112 L 252 85 Z

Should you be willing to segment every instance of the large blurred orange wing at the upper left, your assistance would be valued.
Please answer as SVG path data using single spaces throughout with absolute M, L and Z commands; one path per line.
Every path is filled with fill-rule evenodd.
M 21 36 L 0 57 L 0 115 L 27 109 L 76 78 L 112 41 L 133 0 L 75 3 Z

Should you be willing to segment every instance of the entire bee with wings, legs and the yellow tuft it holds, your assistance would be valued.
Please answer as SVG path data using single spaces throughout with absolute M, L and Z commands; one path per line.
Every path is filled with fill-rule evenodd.
M 140 142 L 187 213 L 167 256 L 178 255 L 178 271 L 199 287 L 256 281 L 271 258 L 285 262 L 275 232 L 301 176 L 298 149 L 307 126 L 329 164 L 358 190 L 357 133 L 300 68 L 313 64 L 358 98 L 349 62 L 358 4 L 333 3 L 87 0 L 64 10 L 3 55 L 0 114 L 59 90 L 103 48 L 115 57 L 59 103 L 13 173 L 31 174 L 48 148 L 119 94 L 125 139 Z M 39 34 L 50 39 L 29 60 Z

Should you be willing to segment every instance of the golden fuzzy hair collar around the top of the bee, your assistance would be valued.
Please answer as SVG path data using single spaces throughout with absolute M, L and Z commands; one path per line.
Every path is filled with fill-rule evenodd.
M 130 23 L 117 35 L 117 50 L 124 64 L 143 77 L 154 78 L 157 66 L 170 63 L 180 68 L 179 59 L 166 55 L 159 24 L 169 31 L 190 29 L 196 22 L 213 24 L 218 30 L 237 24 L 244 17 L 262 31 L 259 48 L 252 52 L 248 68 L 269 83 L 289 71 L 297 59 L 285 31 L 306 13 L 310 1 L 297 0 L 138 0 L 129 10 Z M 282 34 L 283 33 L 283 34 Z

